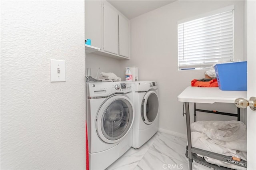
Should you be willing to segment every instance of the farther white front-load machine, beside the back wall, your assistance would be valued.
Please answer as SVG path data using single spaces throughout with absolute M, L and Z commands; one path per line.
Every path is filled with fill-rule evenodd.
M 158 131 L 158 85 L 156 81 L 133 81 L 134 127 L 132 147 L 140 148 Z

